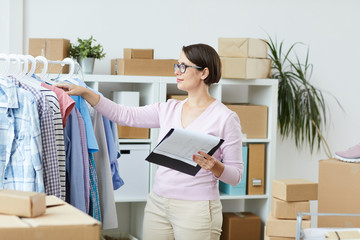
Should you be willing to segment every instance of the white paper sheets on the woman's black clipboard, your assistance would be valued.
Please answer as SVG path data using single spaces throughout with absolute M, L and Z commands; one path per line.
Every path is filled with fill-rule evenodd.
M 196 166 L 193 155 L 198 154 L 198 151 L 208 153 L 219 144 L 220 140 L 219 137 L 212 135 L 175 128 L 153 152 Z

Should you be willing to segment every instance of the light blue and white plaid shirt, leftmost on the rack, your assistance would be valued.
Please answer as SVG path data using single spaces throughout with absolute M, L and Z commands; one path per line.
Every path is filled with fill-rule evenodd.
M 41 152 L 33 95 L 0 79 L 0 189 L 44 192 Z

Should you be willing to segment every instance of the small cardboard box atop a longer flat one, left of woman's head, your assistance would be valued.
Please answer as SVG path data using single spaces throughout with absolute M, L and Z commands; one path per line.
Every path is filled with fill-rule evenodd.
M 175 59 L 154 59 L 154 49 L 124 49 L 124 58 L 111 60 L 112 75 L 174 76 Z

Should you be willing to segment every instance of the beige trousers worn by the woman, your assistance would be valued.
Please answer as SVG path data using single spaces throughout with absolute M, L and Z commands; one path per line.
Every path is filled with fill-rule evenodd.
M 143 240 L 219 240 L 220 200 L 186 201 L 150 193 L 145 207 Z

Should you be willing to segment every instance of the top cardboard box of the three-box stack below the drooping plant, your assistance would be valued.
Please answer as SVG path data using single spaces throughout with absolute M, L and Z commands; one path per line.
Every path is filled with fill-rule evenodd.
M 272 196 L 288 202 L 317 200 L 318 184 L 306 179 L 273 180 Z

